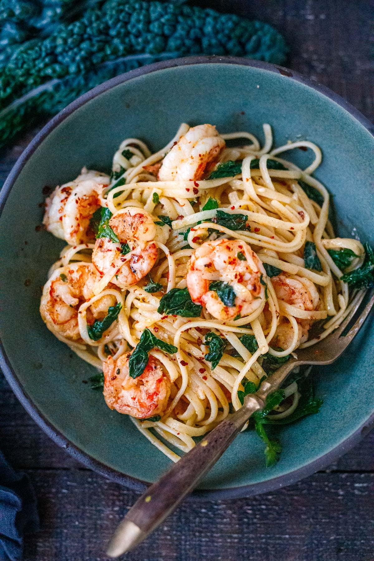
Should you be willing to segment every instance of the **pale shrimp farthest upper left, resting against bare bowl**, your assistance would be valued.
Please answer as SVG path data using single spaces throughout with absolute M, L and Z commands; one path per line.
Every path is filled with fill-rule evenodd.
M 43 224 L 48 232 L 70 245 L 93 240 L 90 218 L 100 207 L 99 197 L 108 185 L 108 176 L 84 168 L 74 181 L 56 187 L 45 201 Z

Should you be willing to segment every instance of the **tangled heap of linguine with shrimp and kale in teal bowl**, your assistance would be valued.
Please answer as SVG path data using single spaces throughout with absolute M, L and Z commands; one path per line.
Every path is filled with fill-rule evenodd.
M 133 415 L 128 409 L 124 411 L 130 411 L 138 430 L 173 461 L 179 456 L 169 445 L 187 452 L 195 445 L 193 438 L 204 435 L 225 419 L 230 410 L 241 407 L 239 397 L 245 384 L 251 381 L 258 387 L 266 377 L 264 361 L 281 364 L 290 353 L 297 354 L 298 347 L 311 346 L 338 327 L 347 314 L 349 293 L 347 283 L 339 280 L 343 272 L 329 250 L 350 249 L 354 259 L 349 270 L 360 266 L 364 255 L 360 242 L 335 237 L 329 221 L 329 193 L 312 176 L 322 159 L 318 146 L 298 141 L 274 149 L 269 125 L 264 125 L 262 148 L 256 137 L 247 132 L 213 135 L 206 150 L 210 150 L 210 155 L 216 150 L 214 158 L 202 177 L 186 179 L 183 165 L 187 164 L 179 162 L 176 150 L 175 161 L 170 154 L 174 146 L 190 149 L 183 147 L 184 135 L 189 130 L 192 131 L 182 123 L 169 144 L 154 154 L 139 139 L 124 140 L 114 154 L 110 178 L 99 172 L 82 171 L 82 181 L 91 183 L 87 183 L 86 191 L 82 188 L 82 199 L 77 197 L 76 205 L 85 200 L 86 208 L 78 212 L 76 220 L 81 224 L 85 220 L 86 233 L 81 238 L 68 238 L 71 245 L 64 248 L 50 269 L 41 303 L 43 319 L 56 337 L 89 364 L 100 370 L 104 365 L 104 374 L 105 365 L 113 365 L 112 378 L 119 373 L 119 364 L 128 370 L 121 357 L 138 348 L 145 330 L 174 347 L 175 352 L 165 352 L 162 344 L 146 351 L 164 378 L 161 383 L 168 386 L 160 397 L 163 403 L 155 409 L 158 415 L 151 415 L 148 420 L 138 411 L 134 410 Z M 225 141 L 232 147 L 225 145 Z M 197 152 L 201 146 L 198 145 Z M 313 154 L 306 169 L 287 160 L 289 151 L 299 148 Z M 164 159 L 166 154 L 170 161 Z M 201 154 L 196 154 L 188 153 L 192 163 L 194 158 L 201 158 Z M 76 195 L 77 185 L 81 188 L 81 180 L 77 180 L 64 187 L 67 197 Z M 93 184 L 100 185 L 95 187 L 99 200 L 93 203 L 96 212 L 100 205 L 110 217 L 106 225 L 101 224 L 101 234 L 96 231 L 96 241 L 87 228 L 90 220 L 93 224 L 93 212 L 87 202 Z M 62 201 L 64 194 L 59 189 Z M 47 201 L 47 214 L 52 212 L 51 205 Z M 57 220 L 57 230 L 66 220 L 61 212 L 63 219 L 58 219 L 60 223 Z M 139 234 L 138 238 L 127 238 L 126 243 L 118 242 L 118 232 L 114 231 L 116 217 L 119 220 L 129 216 L 131 220 L 142 213 L 150 215 L 155 223 L 151 238 L 147 231 L 145 237 Z M 47 229 L 56 234 L 56 228 L 49 227 L 51 220 L 45 222 Z M 67 239 L 63 232 L 57 231 L 57 235 Z M 117 242 L 110 236 L 116 237 Z M 117 247 L 113 257 L 109 251 L 112 245 Z M 227 272 L 211 263 L 200 269 L 197 256 L 202 247 L 215 252 L 217 259 L 221 247 L 223 251 L 234 251 L 233 270 L 243 271 L 244 276 L 230 277 L 231 269 Z M 110 261 L 105 270 L 97 265 L 99 258 L 104 261 L 104 254 L 100 254 L 104 249 L 109 252 L 105 259 Z M 121 280 L 121 270 L 128 264 L 130 268 L 126 271 L 132 275 L 135 257 L 149 264 L 148 254 L 156 257 L 147 274 L 136 278 L 136 282 L 127 277 L 127 281 Z M 86 279 L 78 278 L 81 270 L 87 271 Z M 247 272 L 255 279 L 256 288 L 241 280 Z M 209 290 L 196 296 L 200 281 L 205 286 L 209 283 Z M 84 288 L 77 288 L 77 284 L 67 298 L 61 291 L 73 282 L 83 283 Z M 81 291 L 82 296 L 74 290 Z M 183 316 L 173 313 L 169 306 L 170 312 L 164 304 L 170 300 L 165 300 L 169 293 L 184 295 L 190 309 L 195 304 L 199 313 Z M 69 298 L 73 298 L 70 304 Z M 67 307 L 58 308 L 56 319 L 53 313 L 63 305 L 69 306 L 70 311 Z M 53 313 L 48 306 L 52 306 Z M 114 320 L 109 323 L 105 318 L 110 314 Z M 66 330 L 72 321 L 77 322 L 74 334 Z M 100 332 L 100 327 L 107 325 L 105 321 L 108 327 Z M 320 330 L 313 334 L 312 325 L 316 322 Z M 91 332 L 97 326 L 99 337 L 95 339 Z M 209 344 L 212 338 L 221 348 L 215 355 L 217 364 L 210 356 L 214 351 Z M 105 378 L 104 394 L 109 391 L 112 378 Z M 135 385 L 123 385 L 116 399 L 121 400 L 121 392 L 124 396 L 126 392 L 138 391 Z M 158 391 L 163 389 L 155 389 L 156 401 Z M 272 415 L 278 419 L 291 415 L 299 397 L 297 384 L 289 384 L 284 388 L 284 402 Z M 105 398 L 112 406 L 108 394 Z M 138 403 L 138 396 L 136 400 Z

